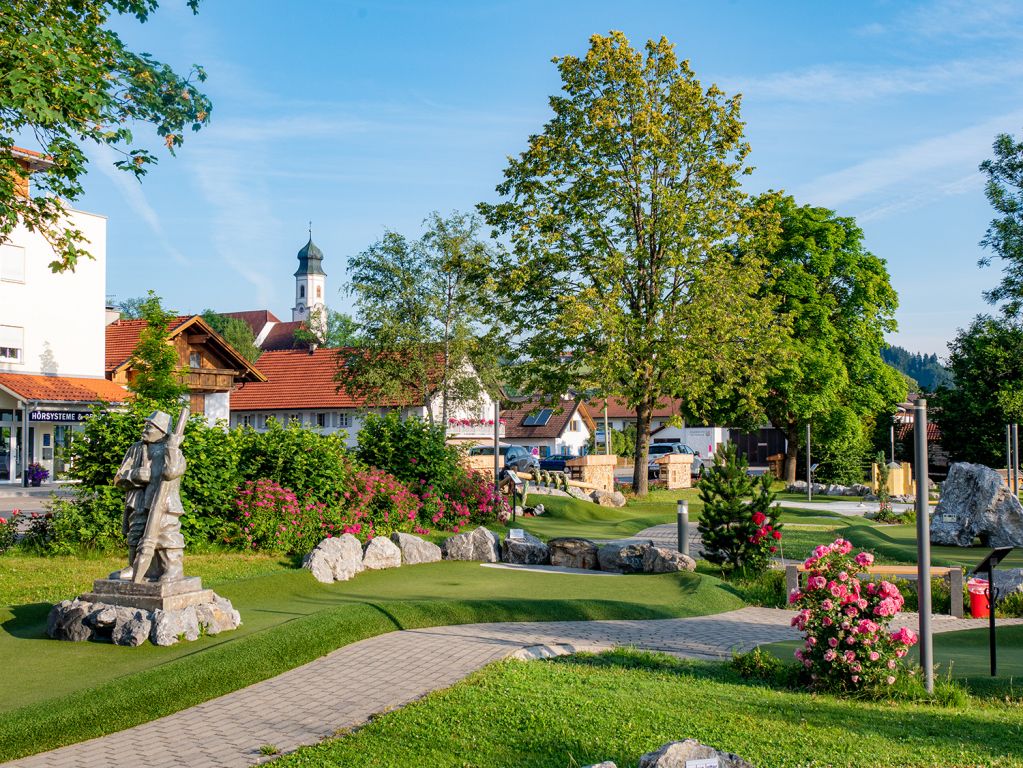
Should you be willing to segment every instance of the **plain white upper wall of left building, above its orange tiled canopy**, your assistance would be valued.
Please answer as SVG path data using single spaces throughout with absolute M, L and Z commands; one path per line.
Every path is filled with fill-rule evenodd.
M 73 211 L 71 220 L 95 257 L 81 259 L 74 272 L 50 272 L 53 250 L 20 225 L 0 246 L 4 257 L 25 257 L 24 280 L 0 275 L 0 325 L 24 328 L 25 345 L 20 362 L 0 361 L 2 371 L 103 377 L 106 218 Z

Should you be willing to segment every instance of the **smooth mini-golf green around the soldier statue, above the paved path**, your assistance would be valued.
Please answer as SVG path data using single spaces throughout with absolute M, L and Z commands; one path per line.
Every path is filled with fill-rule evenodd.
M 222 572 L 244 555 L 219 555 Z M 198 558 L 196 558 L 198 559 Z M 24 558 L 0 557 L 24 567 Z M 90 560 L 93 567 L 101 560 Z M 189 558 L 189 568 L 191 559 Z M 276 568 L 272 562 L 255 563 Z M 215 570 L 208 562 L 210 571 Z M 48 569 L 66 563 L 36 558 Z M 395 629 L 495 621 L 662 619 L 718 613 L 742 601 L 716 579 L 694 574 L 592 577 L 438 562 L 366 572 L 323 585 L 305 571 L 215 586 L 243 626 L 161 648 L 70 643 L 44 637 L 48 602 L 0 608 L 0 762 L 136 725 L 235 690 L 324 653 Z M 97 568 L 105 573 L 105 566 Z M 79 577 L 80 578 L 80 577 Z M 641 583 L 641 588 L 637 585 Z M 72 590 L 71 593 L 74 593 Z M 74 671 L 74 674 L 71 674 Z

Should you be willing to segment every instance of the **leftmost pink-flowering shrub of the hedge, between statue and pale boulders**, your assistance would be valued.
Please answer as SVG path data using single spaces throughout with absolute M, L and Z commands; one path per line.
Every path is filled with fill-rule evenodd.
M 297 552 L 311 548 L 305 536 L 307 523 L 294 491 L 272 480 L 247 481 L 234 500 L 242 540 L 265 552 Z

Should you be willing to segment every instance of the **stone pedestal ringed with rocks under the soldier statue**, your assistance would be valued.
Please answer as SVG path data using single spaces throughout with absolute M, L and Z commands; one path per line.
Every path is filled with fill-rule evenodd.
M 57 603 L 47 634 L 57 640 L 98 640 L 117 645 L 173 645 L 236 629 L 241 617 L 231 601 L 203 589 L 197 577 L 135 584 L 96 579 L 92 591 Z

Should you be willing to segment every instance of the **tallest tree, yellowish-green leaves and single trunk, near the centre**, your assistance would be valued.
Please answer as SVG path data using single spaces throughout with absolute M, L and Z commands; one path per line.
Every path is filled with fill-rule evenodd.
M 527 392 L 618 396 L 636 414 L 633 488 L 647 492 L 651 413 L 749 408 L 775 343 L 764 271 L 732 245 L 755 228 L 740 97 L 704 88 L 667 40 L 595 35 L 554 62 L 554 117 L 481 205 L 509 250 L 497 264 L 510 375 Z M 722 407 L 723 406 L 723 407 Z M 727 411 L 727 412 L 722 412 Z

